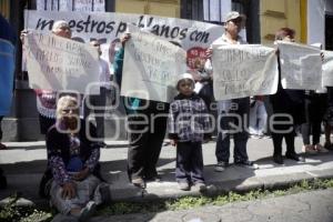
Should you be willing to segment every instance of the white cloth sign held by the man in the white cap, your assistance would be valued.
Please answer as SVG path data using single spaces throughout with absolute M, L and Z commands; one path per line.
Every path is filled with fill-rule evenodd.
M 214 44 L 212 65 L 216 100 L 274 94 L 278 90 L 275 49 L 258 44 Z

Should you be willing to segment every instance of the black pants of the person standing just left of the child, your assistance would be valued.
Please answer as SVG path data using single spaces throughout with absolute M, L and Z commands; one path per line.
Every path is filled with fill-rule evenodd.
M 157 163 L 167 130 L 167 113 L 157 117 L 158 111 L 149 111 L 143 115 L 132 114 L 129 121 L 128 174 L 132 179 L 151 179 L 158 175 Z M 144 118 L 147 117 L 147 118 Z M 144 124 L 143 124 L 144 122 Z

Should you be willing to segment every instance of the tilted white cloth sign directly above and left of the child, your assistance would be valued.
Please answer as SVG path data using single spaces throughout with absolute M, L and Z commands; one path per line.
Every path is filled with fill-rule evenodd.
M 157 36 L 131 30 L 125 44 L 121 95 L 171 102 L 185 63 L 183 49 Z

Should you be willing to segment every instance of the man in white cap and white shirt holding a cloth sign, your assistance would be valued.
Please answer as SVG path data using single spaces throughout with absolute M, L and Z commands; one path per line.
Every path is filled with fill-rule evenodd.
M 242 28 L 245 24 L 245 16 L 240 14 L 236 11 L 231 11 L 225 17 L 224 22 L 224 33 L 222 37 L 216 39 L 213 44 L 245 44 L 246 42 L 240 36 Z M 213 53 L 212 48 L 206 51 L 208 61 L 205 63 L 206 71 L 213 74 L 212 65 L 211 65 L 211 56 Z M 218 101 L 219 105 L 219 115 L 223 115 L 220 118 L 219 125 L 219 134 L 216 141 L 216 150 L 215 155 L 218 159 L 218 164 L 215 167 L 215 171 L 221 172 L 226 167 L 229 167 L 229 158 L 230 158 L 230 135 L 231 135 L 231 125 L 248 125 L 246 119 L 244 117 L 249 117 L 250 113 L 250 98 L 239 98 L 232 100 L 222 100 Z M 232 113 L 231 115 L 229 113 Z M 240 117 L 242 124 L 239 122 L 239 118 L 235 118 L 235 114 Z M 246 143 L 249 133 L 246 129 L 242 128 L 241 131 L 238 131 L 233 134 L 234 140 L 234 163 L 243 167 L 253 168 L 253 163 L 249 161 L 248 152 L 246 152 Z

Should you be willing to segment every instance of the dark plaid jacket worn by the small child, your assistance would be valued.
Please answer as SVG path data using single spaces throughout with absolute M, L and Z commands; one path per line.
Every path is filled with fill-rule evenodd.
M 179 94 L 170 104 L 169 138 L 179 142 L 202 142 L 210 129 L 210 119 L 203 100 L 193 93 Z

